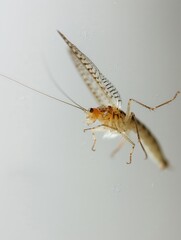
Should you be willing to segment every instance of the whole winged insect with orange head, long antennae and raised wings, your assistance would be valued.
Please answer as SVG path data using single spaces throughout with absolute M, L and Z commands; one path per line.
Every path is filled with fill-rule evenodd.
M 135 114 L 131 112 L 131 104 L 134 102 L 147 109 L 155 110 L 172 102 L 180 92 L 178 91 L 172 99 L 155 107 L 149 107 L 135 99 L 129 99 L 127 104 L 127 110 L 126 112 L 124 112 L 121 109 L 122 100 L 120 94 L 118 90 L 113 86 L 113 84 L 99 71 L 96 65 L 84 53 L 82 53 L 74 44 L 72 44 L 61 32 L 58 31 L 58 33 L 69 46 L 74 63 L 79 70 L 87 87 L 97 100 L 99 107 L 85 109 L 84 107 L 76 103 L 74 100 L 72 100 L 61 89 L 61 92 L 71 101 L 71 103 L 60 100 L 49 94 L 43 93 L 5 75 L 1 74 L 1 76 L 6 77 L 9 80 L 16 82 L 26 88 L 29 88 L 39 94 L 45 95 L 49 98 L 82 110 L 86 114 L 87 125 L 90 126 L 89 128 L 84 129 L 84 131 L 91 131 L 92 133 L 93 151 L 95 150 L 96 145 L 96 131 L 104 131 L 109 136 L 120 135 L 122 136 L 124 141 L 129 142 L 131 145 L 129 161 L 127 162 L 128 164 L 130 164 L 132 162 L 132 155 L 135 149 L 135 143 L 129 137 L 129 133 L 134 132 L 145 154 L 145 158 L 147 158 L 148 153 L 151 158 L 156 160 L 161 169 L 168 167 L 169 163 L 165 158 L 157 139 L 150 132 L 150 130 L 140 120 L 138 120 Z M 93 123 L 98 124 L 96 126 L 93 126 Z M 121 145 L 122 144 L 119 144 L 119 146 L 113 151 L 113 154 L 115 154 L 121 148 Z

